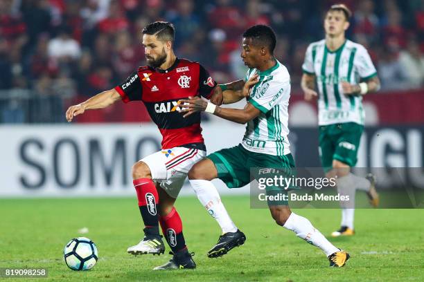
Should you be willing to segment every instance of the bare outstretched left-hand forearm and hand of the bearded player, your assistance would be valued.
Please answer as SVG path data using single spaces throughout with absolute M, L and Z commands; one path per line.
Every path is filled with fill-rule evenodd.
M 102 93 L 98 93 L 93 97 L 89 98 L 85 102 L 82 102 L 78 105 L 70 106 L 65 114 L 67 121 L 71 122 L 73 117 L 77 115 L 81 115 L 85 112 L 85 110 L 93 110 L 93 109 L 103 109 L 107 106 L 114 104 L 117 100 L 121 99 L 121 95 L 115 90 L 111 89 L 108 91 L 103 91 Z

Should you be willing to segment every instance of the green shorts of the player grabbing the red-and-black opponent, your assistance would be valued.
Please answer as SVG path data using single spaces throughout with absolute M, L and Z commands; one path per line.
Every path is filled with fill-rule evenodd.
M 295 167 L 294 159 L 290 153 L 285 156 L 255 153 L 242 147 L 242 144 L 216 151 L 206 158 L 212 160 L 218 171 L 218 178 L 229 188 L 238 188 L 249 184 L 253 180 L 251 168 L 274 168 L 279 169 L 279 171 L 283 169 L 286 173 L 289 173 L 289 171 L 292 173 L 292 169 Z M 287 194 L 287 191 L 281 189 L 281 187 L 267 187 L 266 192 L 267 194 L 275 194 L 276 192 Z M 287 203 L 282 205 L 287 205 Z

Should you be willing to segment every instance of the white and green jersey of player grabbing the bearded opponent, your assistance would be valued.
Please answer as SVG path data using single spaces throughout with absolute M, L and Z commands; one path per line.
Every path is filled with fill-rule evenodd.
M 267 71 L 250 68 L 246 81 L 255 73 L 259 74 L 259 82 L 252 88 L 248 102 L 260 114 L 247 123 L 242 146 L 256 153 L 287 155 L 290 153 L 287 138 L 290 75 L 287 68 L 278 61 Z

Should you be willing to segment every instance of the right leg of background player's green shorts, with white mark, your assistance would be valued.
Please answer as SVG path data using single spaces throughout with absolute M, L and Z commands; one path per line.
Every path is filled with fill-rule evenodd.
M 337 138 L 337 144 L 333 155 L 333 160 L 337 160 L 349 167 L 355 167 L 357 162 L 357 149 L 359 148 L 364 126 L 355 122 L 340 124 L 342 133 Z

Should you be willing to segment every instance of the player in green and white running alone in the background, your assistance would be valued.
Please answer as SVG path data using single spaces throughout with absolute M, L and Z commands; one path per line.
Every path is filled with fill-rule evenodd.
M 328 178 L 337 176 L 337 190 L 350 200 L 341 203 L 342 224 L 332 236 L 353 235 L 355 190 L 366 191 L 370 203 L 378 205 L 375 179 L 350 172 L 364 129 L 362 96 L 378 91 L 376 68 L 364 46 L 345 37 L 351 11 L 343 4 L 330 7 L 324 19 L 326 38 L 306 50 L 301 87 L 305 100 L 319 92 L 319 156 Z

